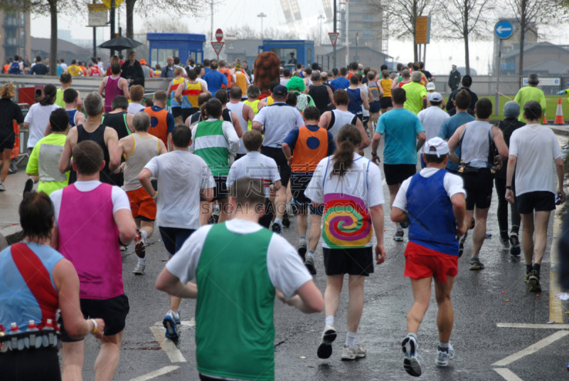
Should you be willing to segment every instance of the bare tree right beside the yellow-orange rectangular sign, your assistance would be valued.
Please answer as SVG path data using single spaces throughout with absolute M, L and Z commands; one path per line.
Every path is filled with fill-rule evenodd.
M 415 42 L 417 18 L 427 16 L 435 6 L 434 0 L 363 0 L 371 14 L 382 14 L 389 19 L 391 36 L 398 40 L 413 40 L 413 58 L 419 61 Z M 385 21 L 384 21 L 385 22 Z

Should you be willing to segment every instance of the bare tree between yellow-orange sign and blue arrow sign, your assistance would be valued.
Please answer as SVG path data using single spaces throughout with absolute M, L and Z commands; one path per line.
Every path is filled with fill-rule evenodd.
M 466 73 L 470 75 L 469 40 L 490 38 L 489 11 L 494 9 L 494 0 L 440 0 L 437 14 L 441 38 L 462 39 L 464 41 L 464 59 Z

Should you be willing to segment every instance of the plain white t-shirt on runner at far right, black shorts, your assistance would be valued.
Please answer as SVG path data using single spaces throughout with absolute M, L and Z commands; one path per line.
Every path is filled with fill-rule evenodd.
M 528 192 L 555 193 L 555 159 L 561 157 L 559 142 L 548 127 L 525 125 L 510 137 L 509 155 L 517 158 L 516 196 Z

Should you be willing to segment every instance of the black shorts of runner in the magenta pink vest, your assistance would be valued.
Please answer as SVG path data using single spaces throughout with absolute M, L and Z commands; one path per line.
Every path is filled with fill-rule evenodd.
M 116 335 L 124 330 L 130 310 L 129 298 L 124 293 L 110 299 L 80 299 L 79 303 L 85 319 L 102 319 L 105 321 L 105 336 Z M 61 341 L 63 343 L 75 343 L 83 340 L 70 338 L 65 332 L 65 324 L 61 317 L 58 319 L 58 323 L 61 325 Z

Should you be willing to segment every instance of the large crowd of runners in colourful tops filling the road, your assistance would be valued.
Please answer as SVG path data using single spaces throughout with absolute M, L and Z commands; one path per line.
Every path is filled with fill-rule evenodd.
M 469 75 L 462 88 L 451 86 L 445 103 L 422 63 L 399 64 L 393 73 L 385 65 L 322 71 L 297 63 L 280 68 L 280 80 L 262 94 L 240 62 L 188 60 L 182 67 L 168 58 L 164 68 L 147 68 L 142 61 L 133 52 L 122 65 L 112 58 L 105 71 L 94 69 L 95 59 L 89 73 L 102 82 L 83 96 L 72 84 L 83 69 L 72 62 L 26 118 L 11 101 L 14 85 L 0 88 L 0 190 L 14 147 L 9 126 L 29 131 L 30 179 L 19 207 L 25 238 L 0 252 L 0 369 L 7 379 L 60 380 L 61 348 L 63 380 L 81 380 L 83 338 L 93 333 L 101 343 L 95 378 L 112 380 L 129 313 L 120 251 L 134 244 L 132 273 L 144 276 L 155 228 L 169 254 L 156 281 L 170 297 L 165 335 L 179 337 L 181 301 L 196 298 L 201 380 L 274 380 L 275 297 L 304 313 L 324 310 L 314 350 L 330 357 L 346 273 L 340 357 L 365 357 L 356 340 L 363 286 L 374 261 L 386 259 L 387 223 L 395 224 L 396 242 L 408 231 L 404 275 L 415 303 L 403 335 L 405 370 L 422 373 L 418 329 L 433 281 L 435 362 L 447 366 L 455 356 L 450 294 L 458 259 L 472 229 L 469 268 L 484 269 L 494 182 L 500 242 L 514 256 L 523 248 L 523 280 L 541 291 L 549 216 L 565 192 L 560 147 L 541 126 L 536 100 L 506 103 L 506 119 L 493 125 L 492 103 L 470 90 Z M 171 78 L 167 90 L 145 95 L 147 72 Z M 296 247 L 282 237 L 291 219 Z M 314 263 L 319 242 L 324 268 Z M 312 281 L 320 271 L 324 295 Z

